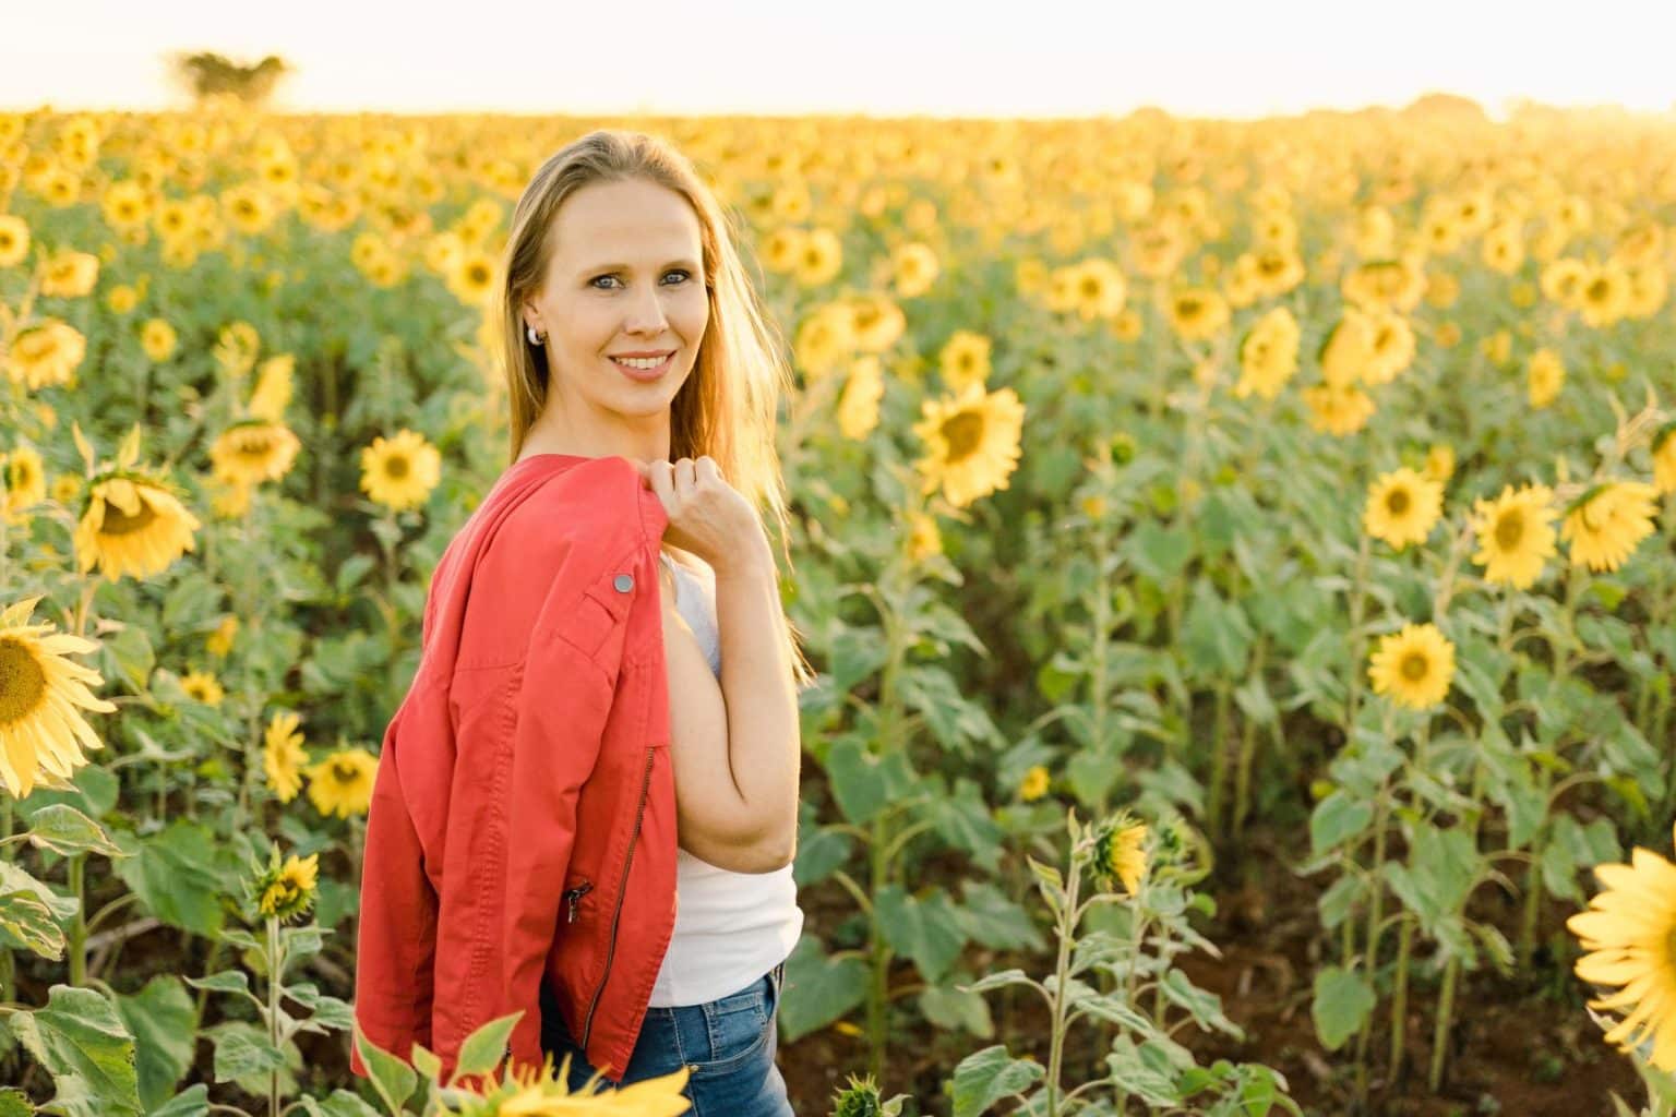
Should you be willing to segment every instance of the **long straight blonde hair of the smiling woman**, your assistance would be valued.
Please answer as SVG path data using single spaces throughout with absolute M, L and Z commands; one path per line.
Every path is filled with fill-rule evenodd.
M 551 243 L 548 231 L 565 201 L 593 183 L 640 179 L 687 199 L 699 219 L 709 325 L 692 375 L 669 409 L 670 461 L 709 454 L 753 507 L 768 509 L 781 554 L 791 568 L 786 482 L 774 445 L 781 392 L 794 380 L 783 338 L 769 322 L 736 250 L 729 213 L 692 162 L 667 141 L 623 129 L 597 129 L 566 144 L 530 178 L 513 208 L 499 268 L 499 347 L 511 405 L 508 464 L 546 407 L 553 387 L 546 348 L 525 335 L 523 301 L 540 290 Z M 791 620 L 781 611 L 798 687 L 815 682 Z

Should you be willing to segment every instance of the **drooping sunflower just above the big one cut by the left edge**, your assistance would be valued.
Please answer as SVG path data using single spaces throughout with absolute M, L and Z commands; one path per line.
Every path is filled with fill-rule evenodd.
M 179 497 L 142 474 L 116 471 L 89 484 L 87 506 L 75 524 L 75 561 L 109 579 L 149 578 L 186 551 L 203 524 Z

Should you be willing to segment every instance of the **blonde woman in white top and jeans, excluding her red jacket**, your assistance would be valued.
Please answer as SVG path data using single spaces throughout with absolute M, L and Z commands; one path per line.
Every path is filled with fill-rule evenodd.
M 513 214 L 504 300 L 523 327 L 508 362 L 513 461 L 628 457 L 669 514 L 679 906 L 622 1082 L 687 1065 L 696 1114 L 789 1114 L 774 1010 L 803 926 L 794 645 L 763 524 L 724 481 L 778 484 L 773 342 L 719 206 L 685 159 L 635 134 L 593 132 L 536 172 Z M 729 841 L 741 816 L 761 816 L 766 837 Z M 580 1085 L 593 1067 L 541 991 L 541 1047 L 568 1055 Z

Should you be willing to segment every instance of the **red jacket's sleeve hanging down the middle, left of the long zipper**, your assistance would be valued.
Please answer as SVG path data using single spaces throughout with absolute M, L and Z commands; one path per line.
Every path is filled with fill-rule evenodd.
M 518 687 L 506 832 L 503 1013 L 523 1011 L 508 1052 L 515 1068 L 541 1063 L 540 991 L 558 928 L 577 836 L 577 795 L 592 775 L 617 690 L 618 658 L 602 661 L 566 640 L 578 589 L 550 588 L 531 630 Z M 615 641 L 620 646 L 620 641 Z

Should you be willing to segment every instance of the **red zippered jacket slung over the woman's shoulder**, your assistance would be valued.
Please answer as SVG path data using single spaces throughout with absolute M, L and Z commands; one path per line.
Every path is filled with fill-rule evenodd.
M 513 1067 L 540 1065 L 540 981 L 590 1063 L 628 1065 L 675 923 L 667 522 L 627 459 L 538 454 L 432 574 L 367 817 L 354 1011 L 444 1082 L 518 1010 Z

